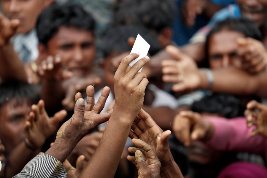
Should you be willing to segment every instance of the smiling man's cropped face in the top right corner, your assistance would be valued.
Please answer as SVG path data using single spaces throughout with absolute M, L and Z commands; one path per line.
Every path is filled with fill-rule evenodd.
M 241 13 L 257 26 L 267 19 L 267 0 L 237 0 Z

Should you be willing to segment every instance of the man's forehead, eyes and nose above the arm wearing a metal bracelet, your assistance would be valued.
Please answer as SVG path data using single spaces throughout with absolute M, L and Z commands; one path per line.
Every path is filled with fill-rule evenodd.
M 245 37 L 237 31 L 219 31 L 209 39 L 209 65 L 211 69 L 228 66 L 241 67 L 237 39 Z

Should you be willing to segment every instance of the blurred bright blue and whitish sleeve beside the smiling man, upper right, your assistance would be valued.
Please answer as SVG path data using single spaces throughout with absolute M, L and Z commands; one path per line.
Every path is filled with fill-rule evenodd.
M 206 36 L 209 34 L 215 23 L 225 20 L 228 17 L 239 18 L 241 12 L 237 4 L 231 4 L 228 7 L 223 8 L 213 15 L 208 25 L 204 26 L 193 35 L 190 39 L 190 43 L 206 42 Z

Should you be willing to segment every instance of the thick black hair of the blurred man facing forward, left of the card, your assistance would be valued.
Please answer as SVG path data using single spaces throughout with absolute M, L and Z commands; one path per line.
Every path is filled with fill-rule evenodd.
M 93 31 L 95 21 L 91 14 L 73 3 L 54 3 L 40 15 L 36 24 L 39 42 L 47 45 L 48 41 L 58 32 L 61 26 L 75 27 Z

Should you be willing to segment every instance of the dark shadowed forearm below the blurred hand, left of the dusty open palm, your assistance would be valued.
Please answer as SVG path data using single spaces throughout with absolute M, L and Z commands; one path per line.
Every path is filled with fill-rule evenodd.
M 65 93 L 61 81 L 42 80 L 41 99 L 45 101 L 45 109 L 57 111 L 62 109 L 61 101 Z

